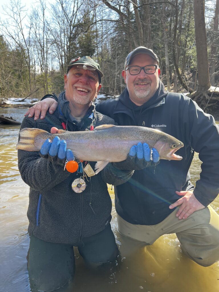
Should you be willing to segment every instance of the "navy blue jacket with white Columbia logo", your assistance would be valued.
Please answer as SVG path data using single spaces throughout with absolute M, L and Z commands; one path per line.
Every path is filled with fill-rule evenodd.
M 131 102 L 126 88 L 119 100 L 102 101 L 96 109 L 121 126 L 156 128 L 184 143 L 176 152 L 183 157 L 181 161 L 161 160 L 155 168 L 135 171 L 128 182 L 115 187 L 115 208 L 124 220 L 140 225 L 161 222 L 173 211 L 169 205 L 179 199 L 176 190 L 194 190 L 195 197 L 204 206 L 217 197 L 219 131 L 214 118 L 205 114 L 196 102 L 183 94 L 167 94 L 160 82 L 154 96 L 140 107 Z M 203 162 L 196 187 L 189 173 L 194 152 L 199 153 Z

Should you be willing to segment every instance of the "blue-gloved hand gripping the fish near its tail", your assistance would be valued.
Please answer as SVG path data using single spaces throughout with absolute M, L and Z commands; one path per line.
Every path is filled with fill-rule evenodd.
M 47 139 L 43 143 L 39 155 L 49 161 L 56 162 L 60 166 L 65 165 L 66 159 L 67 161 L 74 160 L 72 151 L 70 149 L 66 150 L 66 141 L 60 141 L 59 137 L 55 137 L 52 142 Z

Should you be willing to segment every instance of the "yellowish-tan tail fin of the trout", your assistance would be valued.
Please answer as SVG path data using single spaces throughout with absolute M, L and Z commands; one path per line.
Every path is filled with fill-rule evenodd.
M 23 128 L 20 130 L 20 140 L 16 145 L 16 149 L 26 150 L 26 151 L 39 151 L 39 145 L 35 142 L 35 138 L 42 134 L 48 132 L 37 129 L 37 128 Z

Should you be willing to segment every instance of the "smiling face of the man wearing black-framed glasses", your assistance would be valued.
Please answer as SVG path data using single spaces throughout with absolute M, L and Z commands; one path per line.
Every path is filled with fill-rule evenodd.
M 146 66 L 146 65 L 158 65 L 157 61 L 147 54 L 135 55 L 129 66 Z M 142 69 L 138 75 L 131 75 L 128 70 L 122 71 L 122 76 L 128 88 L 129 98 L 136 105 L 142 105 L 147 102 L 159 86 L 159 74 L 158 68 L 154 74 L 146 74 Z

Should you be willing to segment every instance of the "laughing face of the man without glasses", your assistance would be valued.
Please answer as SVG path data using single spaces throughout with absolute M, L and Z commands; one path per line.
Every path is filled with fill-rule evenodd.
M 90 105 L 101 88 L 97 71 L 73 66 L 65 74 L 65 97 L 74 105 Z

